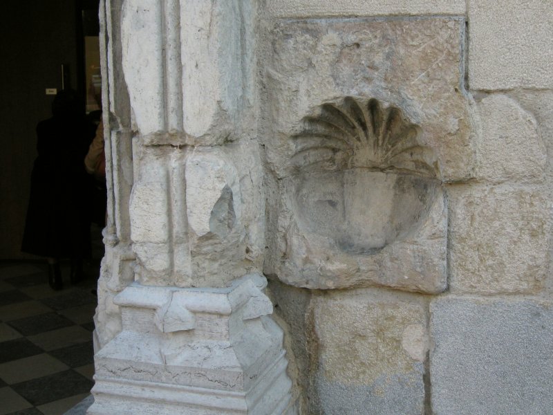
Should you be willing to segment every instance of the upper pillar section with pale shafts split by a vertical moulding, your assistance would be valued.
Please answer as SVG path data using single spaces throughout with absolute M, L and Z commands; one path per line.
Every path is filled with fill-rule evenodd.
M 246 80 L 254 8 L 237 0 L 124 1 L 122 68 L 136 127 L 149 144 L 220 145 L 239 137 L 253 100 Z

